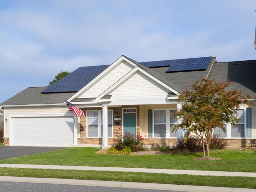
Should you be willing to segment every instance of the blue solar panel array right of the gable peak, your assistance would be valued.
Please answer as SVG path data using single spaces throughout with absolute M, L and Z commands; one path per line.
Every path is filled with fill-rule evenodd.
M 193 71 L 207 69 L 212 57 L 197 57 L 189 59 L 175 59 L 163 61 L 141 62 L 149 68 L 169 67 L 166 72 Z

